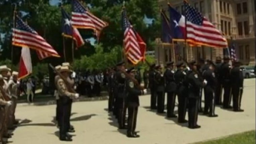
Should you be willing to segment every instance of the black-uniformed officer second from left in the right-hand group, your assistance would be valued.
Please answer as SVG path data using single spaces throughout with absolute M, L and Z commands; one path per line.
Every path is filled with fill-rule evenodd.
M 157 113 L 164 113 L 165 110 L 165 78 L 162 74 L 162 66 L 155 67 L 155 81 L 157 93 Z

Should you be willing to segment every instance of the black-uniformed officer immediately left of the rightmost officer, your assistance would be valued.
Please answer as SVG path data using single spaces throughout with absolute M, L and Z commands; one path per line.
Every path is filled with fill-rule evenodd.
M 224 57 L 224 62 L 221 65 L 220 70 L 220 78 L 222 80 L 222 85 L 224 88 L 224 95 L 223 95 L 223 108 L 229 109 L 232 108 L 230 106 L 231 98 L 232 98 L 232 90 L 231 90 L 231 83 L 230 83 L 230 71 L 231 65 L 229 64 L 230 58 L 228 56 Z

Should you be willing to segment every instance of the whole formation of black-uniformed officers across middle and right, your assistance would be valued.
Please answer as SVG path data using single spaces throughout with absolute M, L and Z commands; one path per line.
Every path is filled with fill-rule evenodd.
M 178 117 L 179 123 L 187 123 L 191 129 L 200 128 L 197 124 L 198 113 L 217 117 L 215 105 L 223 109 L 243 112 L 241 98 L 243 94 L 243 74 L 241 63 L 224 57 L 223 62 L 217 57 L 216 62 L 200 60 L 176 63 L 169 62 L 165 72 L 161 65 L 152 64 L 149 70 L 149 88 L 151 92 L 150 108 L 157 113 L 165 113 L 165 93 L 167 93 L 167 117 Z M 186 66 L 187 65 L 187 66 Z M 128 137 L 139 137 L 135 132 L 139 95 L 146 89 L 135 80 L 134 68 L 125 71 L 124 62 L 117 64 L 109 74 L 109 111 L 118 119 L 119 129 L 127 129 Z M 224 89 L 222 102 L 222 89 Z M 204 92 L 204 109 L 202 109 L 202 92 Z M 178 116 L 175 115 L 175 102 L 178 97 Z M 233 98 L 232 98 L 233 97 Z M 233 106 L 231 100 L 233 99 Z M 128 120 L 126 125 L 126 111 Z M 185 119 L 188 110 L 188 121 Z

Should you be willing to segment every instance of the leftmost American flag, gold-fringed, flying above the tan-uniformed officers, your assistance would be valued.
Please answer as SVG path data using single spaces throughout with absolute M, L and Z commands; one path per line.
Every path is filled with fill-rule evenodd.
M 60 57 L 53 47 L 35 30 L 29 27 L 18 16 L 15 16 L 16 26 L 12 32 L 12 45 L 35 49 L 37 53 Z

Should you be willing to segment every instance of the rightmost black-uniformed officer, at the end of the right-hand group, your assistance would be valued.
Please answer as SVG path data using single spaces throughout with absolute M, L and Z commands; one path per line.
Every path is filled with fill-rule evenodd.
M 241 99 L 243 95 L 244 77 L 243 72 L 240 69 L 241 62 L 235 61 L 234 68 L 231 70 L 231 85 L 233 94 L 233 111 L 243 112 L 241 109 Z

